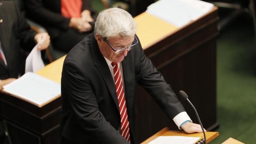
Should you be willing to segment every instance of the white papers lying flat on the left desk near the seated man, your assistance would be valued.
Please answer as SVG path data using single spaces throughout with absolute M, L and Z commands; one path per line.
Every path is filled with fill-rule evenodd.
M 61 94 L 61 85 L 33 72 L 27 72 L 19 79 L 5 85 L 4 91 L 42 105 Z

